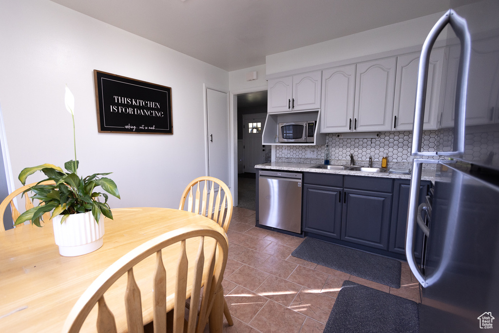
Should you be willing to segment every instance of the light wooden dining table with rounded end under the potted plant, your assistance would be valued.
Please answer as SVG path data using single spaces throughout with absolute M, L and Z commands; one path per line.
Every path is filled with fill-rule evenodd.
M 189 225 L 209 226 L 224 232 L 207 217 L 177 209 L 140 207 L 113 209 L 112 212 L 113 220 L 104 219 L 104 245 L 78 257 L 63 257 L 59 254 L 50 221 L 42 228 L 23 225 L 0 233 L 0 332 L 60 332 L 71 308 L 87 287 L 106 268 L 135 247 L 163 233 Z M 193 251 L 197 251 L 197 246 Z M 175 271 L 177 252 L 164 253 L 163 260 L 167 274 Z M 154 258 L 150 258 L 150 265 L 147 261 L 142 265 L 147 268 L 140 269 L 138 273 L 134 269 L 134 274 L 141 288 L 146 324 L 152 321 L 153 316 Z M 126 332 L 126 275 L 115 285 L 114 289 L 106 292 L 106 303 L 110 308 L 117 309 L 115 318 L 118 332 Z M 167 285 L 167 293 L 173 294 L 173 286 Z M 216 322 L 213 326 L 210 323 L 211 332 L 222 331 L 223 296 L 217 300 L 210 315 L 210 322 Z M 167 309 L 171 310 L 173 302 L 167 303 Z M 85 321 L 81 332 L 96 332 L 95 318 L 96 309 Z

